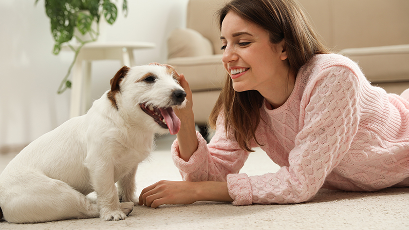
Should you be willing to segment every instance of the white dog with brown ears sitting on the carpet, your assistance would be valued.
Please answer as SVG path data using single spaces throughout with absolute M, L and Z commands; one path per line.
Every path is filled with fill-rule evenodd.
M 0 218 L 3 210 L 12 223 L 125 219 L 139 203 L 135 174 L 155 133 L 180 129 L 172 106 L 182 105 L 186 93 L 178 81 L 167 65 L 120 69 L 84 116 L 36 139 L 7 165 Z M 86 197 L 92 191 L 96 202 Z

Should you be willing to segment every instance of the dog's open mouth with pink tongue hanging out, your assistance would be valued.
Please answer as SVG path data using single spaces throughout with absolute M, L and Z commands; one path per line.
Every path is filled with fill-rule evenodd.
M 142 111 L 151 116 L 160 127 L 169 128 L 171 135 L 175 135 L 180 130 L 180 120 L 172 107 L 157 108 L 154 106 L 146 106 L 145 103 L 140 104 L 140 107 Z

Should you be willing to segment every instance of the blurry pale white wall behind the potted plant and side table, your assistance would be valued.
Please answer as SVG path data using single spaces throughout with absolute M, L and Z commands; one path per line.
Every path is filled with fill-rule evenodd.
M 115 2 L 115 1 L 114 1 Z M 152 42 L 154 49 L 134 50 L 135 64 L 165 62 L 166 39 L 185 24 L 187 0 L 128 0 L 128 15 L 121 12 L 106 25 L 107 42 Z M 65 122 L 70 90 L 57 94 L 73 59 L 73 52 L 52 54 L 54 42 L 44 1 L 0 1 L 0 154 L 22 147 Z M 109 88 L 121 67 L 119 61 L 92 62 L 91 98 Z

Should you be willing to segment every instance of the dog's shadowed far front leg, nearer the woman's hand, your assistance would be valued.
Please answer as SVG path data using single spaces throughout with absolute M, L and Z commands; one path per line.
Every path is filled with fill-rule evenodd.
M 137 169 L 138 166 L 133 168 L 128 175 L 125 175 L 121 180 L 118 181 L 118 195 L 120 202 L 134 202 L 135 205 L 139 203 L 138 199 L 136 199 L 135 196 L 135 175 Z

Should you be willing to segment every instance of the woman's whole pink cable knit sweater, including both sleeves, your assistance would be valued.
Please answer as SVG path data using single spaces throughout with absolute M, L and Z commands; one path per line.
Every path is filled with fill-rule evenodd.
M 234 205 L 304 202 L 321 187 L 409 186 L 409 102 L 371 86 L 344 56 L 314 56 L 299 70 L 286 103 L 273 110 L 264 103 L 261 114 L 259 147 L 280 170 L 238 174 L 249 153 L 227 138 L 218 119 L 208 145 L 197 133 L 199 146 L 188 162 L 174 142 L 173 160 L 182 178 L 227 181 Z

